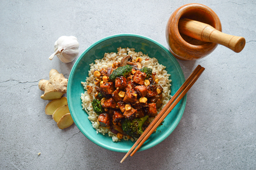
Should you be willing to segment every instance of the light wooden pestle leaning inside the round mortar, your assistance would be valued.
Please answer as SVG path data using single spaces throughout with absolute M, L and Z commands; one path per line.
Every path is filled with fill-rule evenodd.
M 246 45 L 246 39 L 243 37 L 225 34 L 209 24 L 191 19 L 181 18 L 179 20 L 179 31 L 181 34 L 198 39 L 199 41 L 224 45 L 237 53 L 241 52 Z

